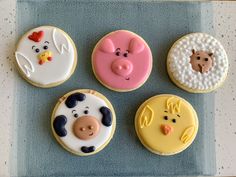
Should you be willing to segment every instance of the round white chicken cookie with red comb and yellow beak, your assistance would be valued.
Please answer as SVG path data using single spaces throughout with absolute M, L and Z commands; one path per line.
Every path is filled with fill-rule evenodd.
M 65 82 L 77 64 L 74 42 L 64 31 L 53 26 L 40 26 L 23 35 L 15 57 L 23 78 L 43 88 Z

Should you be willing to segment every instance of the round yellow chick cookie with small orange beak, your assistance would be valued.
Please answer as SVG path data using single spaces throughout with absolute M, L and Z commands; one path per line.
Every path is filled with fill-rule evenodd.
M 157 95 L 139 107 L 135 129 L 148 150 L 159 155 L 173 155 L 185 150 L 195 139 L 198 117 L 183 98 Z

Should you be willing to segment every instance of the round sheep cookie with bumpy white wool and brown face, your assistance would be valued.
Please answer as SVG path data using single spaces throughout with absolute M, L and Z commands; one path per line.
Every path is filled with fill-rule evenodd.
M 225 81 L 228 67 L 223 46 L 214 37 L 204 33 L 192 33 L 180 38 L 171 47 L 167 57 L 171 80 L 192 93 L 217 89 Z

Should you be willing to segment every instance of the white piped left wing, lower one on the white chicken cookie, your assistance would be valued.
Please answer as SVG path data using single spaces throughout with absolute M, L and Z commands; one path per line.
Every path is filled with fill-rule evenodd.
M 30 59 L 27 58 L 21 52 L 16 52 L 15 57 L 16 57 L 16 62 L 20 67 L 21 71 L 23 71 L 23 73 L 25 73 L 27 77 L 30 77 L 31 73 L 34 72 L 34 66 L 30 61 Z

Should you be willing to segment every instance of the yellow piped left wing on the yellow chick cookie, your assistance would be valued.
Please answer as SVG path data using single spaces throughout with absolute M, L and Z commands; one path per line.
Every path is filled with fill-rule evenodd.
M 153 121 L 153 116 L 154 112 L 152 108 L 149 105 L 146 105 L 139 119 L 140 128 L 145 128 L 150 126 Z

